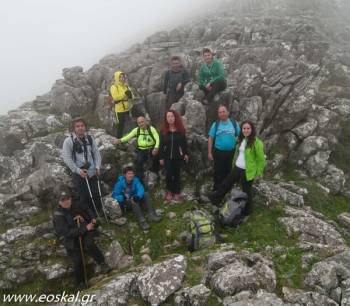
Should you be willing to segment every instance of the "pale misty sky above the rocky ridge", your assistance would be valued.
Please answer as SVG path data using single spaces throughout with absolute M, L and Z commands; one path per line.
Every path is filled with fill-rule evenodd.
M 208 13 L 215 0 L 2 0 L 0 114 L 51 89 L 64 67 Z

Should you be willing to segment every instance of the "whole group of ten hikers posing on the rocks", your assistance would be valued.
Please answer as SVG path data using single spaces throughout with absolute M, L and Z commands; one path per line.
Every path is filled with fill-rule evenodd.
M 214 96 L 226 88 L 223 65 L 213 57 L 210 49 L 203 50 L 203 60 L 199 72 L 200 89 L 204 92 L 203 105 L 207 108 L 208 159 L 213 162 L 213 188 L 209 192 L 211 203 L 222 206 L 225 195 L 235 183 L 241 183 L 247 195 L 244 216 L 252 211 L 251 189 L 254 179 L 261 176 L 265 167 L 264 145 L 256 136 L 254 124 L 244 120 L 240 124 L 229 113 L 225 105 L 215 105 Z M 165 113 L 159 131 L 152 126 L 145 115 L 137 117 L 137 127 L 124 135 L 125 122 L 132 107 L 134 94 L 125 73 L 117 71 L 114 84 L 110 88 L 110 103 L 117 118 L 116 146 L 135 139 L 137 154 L 134 165 L 123 167 L 117 179 L 112 197 L 121 210 L 131 210 L 143 231 L 149 222 L 159 222 L 161 217 L 154 209 L 151 196 L 147 192 L 146 171 L 158 172 L 164 167 L 166 179 L 165 203 L 182 202 L 181 170 L 190 159 L 187 147 L 186 129 L 178 112 L 171 105 L 183 96 L 184 86 L 190 81 L 189 73 L 182 67 L 181 58 L 173 56 L 170 69 L 164 76 L 166 94 Z M 53 223 L 67 254 L 74 263 L 76 282 L 86 284 L 84 250 L 90 254 L 103 272 L 110 271 L 102 252 L 94 244 L 94 229 L 102 215 L 107 219 L 101 197 L 100 171 L 101 154 L 92 135 L 87 132 L 87 123 L 82 118 L 72 121 L 71 134 L 62 149 L 62 158 L 72 173 L 72 181 L 79 194 L 79 200 L 72 205 L 70 190 L 63 186 L 60 190 L 59 205 L 54 211 Z

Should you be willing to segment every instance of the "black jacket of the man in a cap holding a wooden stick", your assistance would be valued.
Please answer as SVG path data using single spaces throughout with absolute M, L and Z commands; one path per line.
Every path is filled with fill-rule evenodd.
M 87 232 L 86 223 L 83 222 L 78 228 L 74 217 L 77 215 L 72 209 L 65 209 L 58 206 L 53 213 L 53 226 L 56 235 L 62 239 L 62 243 L 67 250 L 76 247 L 77 238 Z

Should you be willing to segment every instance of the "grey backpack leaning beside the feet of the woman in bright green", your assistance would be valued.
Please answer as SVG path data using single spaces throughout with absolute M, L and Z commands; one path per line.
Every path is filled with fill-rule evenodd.
M 234 189 L 228 201 L 220 208 L 219 219 L 222 225 L 238 226 L 243 222 L 248 196 Z

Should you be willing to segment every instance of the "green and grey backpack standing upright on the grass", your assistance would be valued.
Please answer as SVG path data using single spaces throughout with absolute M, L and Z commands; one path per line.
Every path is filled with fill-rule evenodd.
M 208 215 L 198 209 L 191 212 L 190 250 L 199 250 L 215 244 L 214 226 Z

